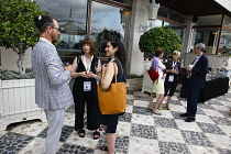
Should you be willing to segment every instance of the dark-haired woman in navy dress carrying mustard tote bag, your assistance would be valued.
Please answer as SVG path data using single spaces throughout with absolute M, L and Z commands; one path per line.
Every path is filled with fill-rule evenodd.
M 110 58 L 108 64 L 102 65 L 101 86 L 102 89 L 108 89 L 112 82 L 114 82 L 114 75 L 117 75 L 117 81 L 125 81 L 123 74 L 123 67 L 125 64 L 125 52 L 121 41 L 108 41 L 106 47 L 106 54 Z M 102 124 L 106 131 L 107 146 L 100 146 L 102 151 L 108 151 L 108 154 L 116 153 L 116 132 L 119 121 L 119 114 L 100 114 L 97 120 L 98 124 Z

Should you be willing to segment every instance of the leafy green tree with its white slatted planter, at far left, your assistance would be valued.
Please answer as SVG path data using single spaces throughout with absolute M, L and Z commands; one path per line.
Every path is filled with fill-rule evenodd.
M 35 105 L 33 74 L 23 67 L 25 51 L 33 46 L 38 37 L 34 16 L 47 14 L 31 0 L 0 0 L 0 46 L 15 52 L 19 56 L 19 72 L 1 70 L 0 85 L 0 130 L 8 124 L 30 119 L 45 120 L 43 110 Z M 3 57 L 1 57 L 3 58 Z M 26 72 L 26 73 L 25 73 Z

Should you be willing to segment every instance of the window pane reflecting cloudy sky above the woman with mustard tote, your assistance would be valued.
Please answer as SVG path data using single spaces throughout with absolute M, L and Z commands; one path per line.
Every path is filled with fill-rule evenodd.
M 91 32 L 91 38 L 96 42 L 98 56 L 106 56 L 108 40 L 119 38 L 124 42 L 125 25 L 121 23 L 120 8 L 92 2 L 91 26 L 97 33 Z

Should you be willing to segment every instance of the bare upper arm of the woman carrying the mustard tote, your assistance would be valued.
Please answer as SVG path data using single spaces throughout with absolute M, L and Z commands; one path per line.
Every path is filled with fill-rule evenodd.
M 116 69 L 116 75 L 117 75 L 118 67 L 114 63 L 109 63 L 108 65 L 106 65 L 106 64 L 102 65 L 102 77 L 101 77 L 102 89 L 108 89 L 109 86 L 111 85 L 112 78 L 114 76 L 114 69 Z

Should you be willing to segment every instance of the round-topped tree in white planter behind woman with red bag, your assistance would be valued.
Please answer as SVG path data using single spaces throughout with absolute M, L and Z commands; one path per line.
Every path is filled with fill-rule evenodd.
M 182 50 L 182 40 L 170 28 L 153 28 L 141 35 L 139 48 L 146 55 L 154 55 L 156 48 L 163 48 L 167 57 L 168 55 L 172 55 L 173 51 Z M 147 73 L 144 72 L 142 91 L 151 92 L 151 90 L 152 80 L 150 79 Z

